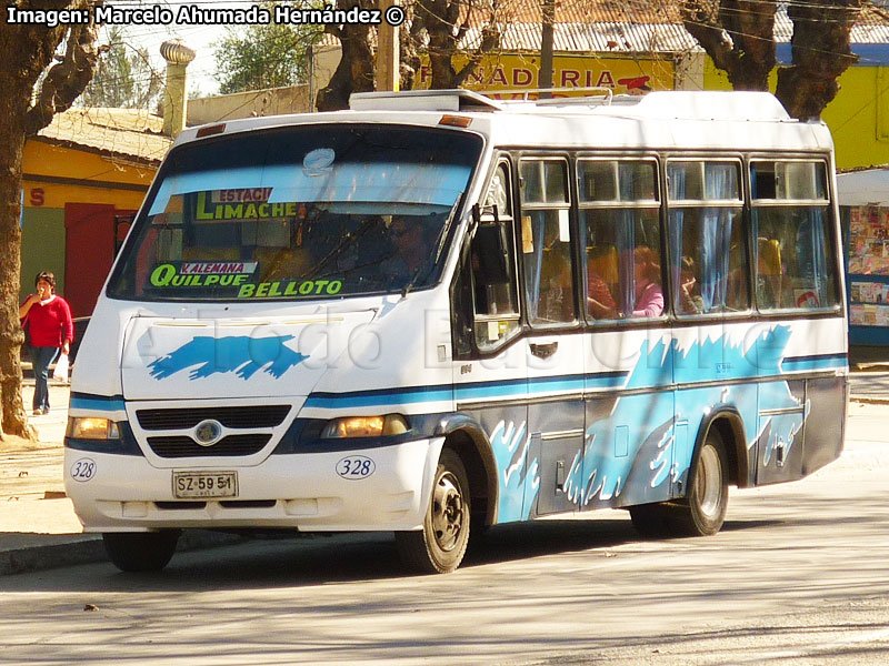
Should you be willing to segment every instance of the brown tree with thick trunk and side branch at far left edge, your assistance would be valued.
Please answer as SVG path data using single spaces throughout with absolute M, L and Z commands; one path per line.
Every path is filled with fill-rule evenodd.
M 19 9 L 91 10 L 102 0 L 17 0 Z M 24 140 L 71 107 L 96 71 L 98 27 L 37 23 L 0 30 L 0 403 L 2 432 L 30 437 L 21 400 L 19 325 Z M 61 48 L 60 52 L 59 49 Z M 37 94 L 34 94 L 37 93 Z

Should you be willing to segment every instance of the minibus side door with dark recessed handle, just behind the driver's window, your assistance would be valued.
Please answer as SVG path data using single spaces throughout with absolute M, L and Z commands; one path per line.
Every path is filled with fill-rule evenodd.
M 580 503 L 583 454 L 583 335 L 578 313 L 568 162 L 523 159 L 519 233 L 528 333 L 529 458 L 539 461 L 537 515 Z

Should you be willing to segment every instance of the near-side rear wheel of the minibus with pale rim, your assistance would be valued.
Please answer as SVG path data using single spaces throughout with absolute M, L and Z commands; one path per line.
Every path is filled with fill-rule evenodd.
M 683 536 L 710 536 L 719 532 L 729 503 L 729 468 L 726 446 L 710 428 L 698 453 L 688 495 L 676 504 L 668 521 L 671 532 Z

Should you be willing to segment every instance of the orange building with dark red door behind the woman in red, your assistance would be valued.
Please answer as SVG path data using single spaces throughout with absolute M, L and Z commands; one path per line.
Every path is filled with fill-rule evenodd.
M 22 295 L 40 271 L 74 316 L 91 314 L 119 241 L 171 144 L 161 119 L 129 109 L 71 109 L 24 145 Z

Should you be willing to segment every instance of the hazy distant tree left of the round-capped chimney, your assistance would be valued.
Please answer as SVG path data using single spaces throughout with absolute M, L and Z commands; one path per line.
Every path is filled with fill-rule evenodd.
M 108 40 L 99 49 L 103 54 L 80 102 L 86 107 L 153 109 L 163 90 L 163 74 L 151 67 L 148 49 L 130 47 L 118 26 L 111 27 Z

